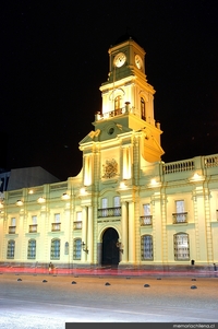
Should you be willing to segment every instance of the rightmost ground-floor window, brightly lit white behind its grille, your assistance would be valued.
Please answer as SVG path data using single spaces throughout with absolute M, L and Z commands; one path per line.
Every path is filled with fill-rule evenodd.
M 186 233 L 174 234 L 174 260 L 189 260 L 189 259 L 190 259 L 189 234 Z

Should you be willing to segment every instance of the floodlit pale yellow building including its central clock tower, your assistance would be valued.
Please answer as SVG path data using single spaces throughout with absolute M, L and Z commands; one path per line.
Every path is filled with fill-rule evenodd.
M 66 181 L 4 193 L 0 261 L 58 267 L 210 267 L 218 261 L 218 154 L 164 163 L 145 51 L 109 49 L 102 110 Z

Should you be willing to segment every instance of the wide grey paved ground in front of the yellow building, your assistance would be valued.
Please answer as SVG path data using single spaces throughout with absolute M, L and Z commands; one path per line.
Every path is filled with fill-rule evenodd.
M 65 322 L 213 322 L 218 278 L 0 274 L 0 328 Z

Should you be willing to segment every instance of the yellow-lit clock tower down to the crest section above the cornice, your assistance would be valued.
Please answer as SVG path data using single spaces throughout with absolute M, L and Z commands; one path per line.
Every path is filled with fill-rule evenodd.
M 145 50 L 129 37 L 118 40 L 108 52 L 108 79 L 100 86 L 102 108 L 96 113 L 95 131 L 80 143 L 85 158 L 84 181 L 88 185 L 97 179 L 90 174 L 92 161 L 87 156 L 96 148 L 101 166 L 98 179 L 102 180 L 120 177 L 119 180 L 131 178 L 135 181 L 134 163 L 138 168 L 145 167 L 147 163 L 159 162 L 164 154 L 162 131 L 154 118 L 155 90 L 145 74 Z M 138 156 L 134 157 L 136 153 Z

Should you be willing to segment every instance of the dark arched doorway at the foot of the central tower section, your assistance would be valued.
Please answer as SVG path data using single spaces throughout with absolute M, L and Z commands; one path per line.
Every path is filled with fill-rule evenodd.
M 120 261 L 119 248 L 117 243 L 119 239 L 118 232 L 109 227 L 102 235 L 102 266 L 118 267 Z

